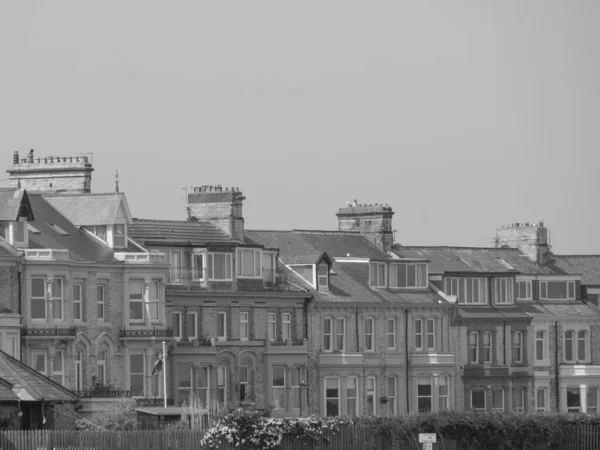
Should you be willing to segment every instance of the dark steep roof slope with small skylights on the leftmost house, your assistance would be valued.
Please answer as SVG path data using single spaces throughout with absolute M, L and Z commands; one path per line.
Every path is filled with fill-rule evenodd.
M 29 201 L 35 212 L 35 220 L 29 225 L 39 231 L 29 232 L 29 248 L 68 250 L 69 258 L 78 261 L 116 261 L 108 245 L 76 227 L 48 203 L 45 196 L 31 194 Z

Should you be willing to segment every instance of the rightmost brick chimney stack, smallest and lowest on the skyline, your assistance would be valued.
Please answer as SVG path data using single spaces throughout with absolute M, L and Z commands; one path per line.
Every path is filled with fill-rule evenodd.
M 496 247 L 518 248 L 533 262 L 546 264 L 550 256 L 548 229 L 544 222 L 505 225 L 496 230 Z

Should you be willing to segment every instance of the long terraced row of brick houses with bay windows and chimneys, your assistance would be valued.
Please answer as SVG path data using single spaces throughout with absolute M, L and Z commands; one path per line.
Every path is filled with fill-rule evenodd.
M 554 255 L 543 223 L 405 246 L 391 206 L 355 201 L 335 231 L 246 230 L 218 185 L 187 218 L 136 219 L 92 171 L 15 154 L 0 191 L 0 348 L 81 413 L 121 393 L 275 417 L 598 410 L 600 256 Z

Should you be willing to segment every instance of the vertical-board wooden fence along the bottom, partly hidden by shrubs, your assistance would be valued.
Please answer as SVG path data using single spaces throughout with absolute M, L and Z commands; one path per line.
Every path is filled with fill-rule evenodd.
M 0 431 L 0 450 L 207 450 L 200 446 L 201 432 L 129 431 L 123 433 L 78 431 Z M 218 450 L 245 450 L 223 444 Z M 360 427 L 348 427 L 338 433 L 327 432 L 318 441 L 284 437 L 279 450 L 388 450 L 394 448 L 389 440 L 370 435 Z M 400 447 L 420 450 L 414 441 Z M 516 448 L 516 447 L 515 447 Z M 600 449 L 600 427 L 577 426 L 564 429 L 548 442 L 539 442 L 531 450 L 596 450 Z M 441 439 L 433 450 L 484 450 L 481 445 L 458 445 Z M 489 450 L 497 450 L 491 448 Z

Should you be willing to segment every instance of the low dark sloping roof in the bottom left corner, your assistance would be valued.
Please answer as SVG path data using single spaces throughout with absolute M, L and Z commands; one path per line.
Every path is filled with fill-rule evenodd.
M 11 392 L 21 400 L 65 402 L 78 400 L 73 392 L 3 351 L 0 351 L 0 381 L 3 382 L 0 384 L 0 398 L 8 396 L 7 386 L 15 388 L 15 385 L 20 385 L 25 390 L 25 394 L 28 395 L 17 396 L 12 389 Z

